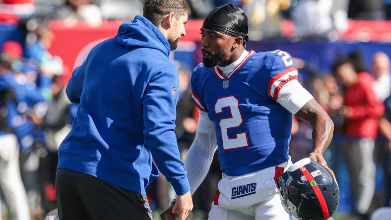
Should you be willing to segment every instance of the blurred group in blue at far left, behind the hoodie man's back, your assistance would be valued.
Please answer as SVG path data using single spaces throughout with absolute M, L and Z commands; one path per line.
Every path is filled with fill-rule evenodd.
M 56 207 L 57 150 L 77 109 L 65 95 L 62 60 L 47 51 L 51 31 L 31 34 L 25 50 L 6 41 L 0 53 L 1 197 L 18 220 Z

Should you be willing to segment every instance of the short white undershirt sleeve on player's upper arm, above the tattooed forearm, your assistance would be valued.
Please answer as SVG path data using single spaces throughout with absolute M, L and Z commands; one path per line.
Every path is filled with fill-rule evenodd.
M 314 97 L 297 80 L 285 84 L 278 93 L 277 103 L 292 114 L 296 114 Z

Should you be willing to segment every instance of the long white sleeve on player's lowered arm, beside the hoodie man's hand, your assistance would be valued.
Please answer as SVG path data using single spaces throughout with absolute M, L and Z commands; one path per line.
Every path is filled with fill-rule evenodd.
M 207 112 L 202 110 L 198 112 L 197 132 L 185 161 L 192 195 L 208 173 L 217 149 L 214 122 L 209 119 Z

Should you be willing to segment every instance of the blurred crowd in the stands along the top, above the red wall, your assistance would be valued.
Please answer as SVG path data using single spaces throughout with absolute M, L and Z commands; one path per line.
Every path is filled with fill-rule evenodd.
M 281 36 L 285 19 L 294 22 L 296 38 L 336 40 L 348 27 L 348 18 L 385 20 L 391 18 L 391 0 L 188 0 L 190 18 L 202 19 L 215 6 L 233 3 L 249 17 L 253 40 Z M 62 19 L 72 24 L 84 20 L 99 26 L 104 20 L 132 19 L 142 14 L 143 0 L 0 0 L 0 20 L 49 22 Z

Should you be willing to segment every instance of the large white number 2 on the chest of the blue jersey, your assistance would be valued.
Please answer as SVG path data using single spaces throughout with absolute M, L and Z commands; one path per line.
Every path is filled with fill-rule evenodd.
M 227 130 L 230 128 L 240 127 L 243 123 L 242 114 L 239 110 L 239 101 L 234 96 L 219 98 L 215 105 L 215 113 L 223 113 L 224 108 L 229 108 L 231 117 L 221 118 L 219 125 L 221 129 L 221 137 L 223 140 L 223 150 L 233 150 L 249 146 L 247 132 L 236 133 L 236 137 L 229 138 Z

